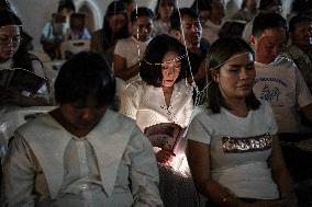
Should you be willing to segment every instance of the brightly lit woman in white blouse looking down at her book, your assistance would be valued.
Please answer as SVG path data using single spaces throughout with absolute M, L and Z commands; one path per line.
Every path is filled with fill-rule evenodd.
M 186 49 L 176 38 L 156 36 L 141 62 L 142 81 L 130 83 L 121 99 L 121 113 L 135 119 L 154 146 L 160 196 L 170 207 L 197 204 L 192 181 L 180 166 L 183 150 L 178 149 L 193 110 L 192 88 L 183 79 L 187 66 Z

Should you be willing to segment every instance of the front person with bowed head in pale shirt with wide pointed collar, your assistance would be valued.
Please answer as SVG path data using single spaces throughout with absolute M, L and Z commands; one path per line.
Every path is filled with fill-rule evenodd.
M 82 51 L 55 81 L 59 106 L 15 131 L 4 163 L 4 206 L 163 206 L 152 146 L 109 110 L 115 79 Z

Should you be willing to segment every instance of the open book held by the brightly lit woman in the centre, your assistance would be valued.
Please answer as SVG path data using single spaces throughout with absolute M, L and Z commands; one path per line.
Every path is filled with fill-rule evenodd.
M 153 147 L 159 147 L 170 151 L 175 150 L 183 131 L 185 128 L 175 123 L 160 123 L 144 129 L 144 134 L 147 136 Z

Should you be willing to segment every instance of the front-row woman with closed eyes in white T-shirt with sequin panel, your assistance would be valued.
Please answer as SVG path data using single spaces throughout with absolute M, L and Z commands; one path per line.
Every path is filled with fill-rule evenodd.
M 198 191 L 210 207 L 297 206 L 272 111 L 253 93 L 253 49 L 239 38 L 220 38 L 207 68 L 208 103 L 187 134 Z

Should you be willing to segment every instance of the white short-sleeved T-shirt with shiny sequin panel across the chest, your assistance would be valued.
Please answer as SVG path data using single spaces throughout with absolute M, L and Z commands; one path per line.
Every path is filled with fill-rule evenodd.
M 187 138 L 210 146 L 211 175 L 237 197 L 274 199 L 278 188 L 267 159 L 271 154 L 277 125 L 269 103 L 237 117 L 225 108 L 194 116 Z

